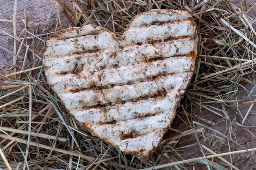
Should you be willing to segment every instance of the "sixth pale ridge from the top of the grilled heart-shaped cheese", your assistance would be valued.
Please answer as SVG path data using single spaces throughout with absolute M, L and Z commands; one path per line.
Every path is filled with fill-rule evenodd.
M 115 120 L 120 122 L 122 120 L 137 119 L 137 116 L 154 115 L 160 112 L 171 112 L 172 108 L 177 105 L 176 101 L 179 101 L 177 96 L 183 93 L 185 90 L 171 91 L 166 97 L 149 98 L 147 100 L 140 100 L 138 102 L 128 102 L 124 105 L 117 104 L 114 106 L 108 106 L 105 108 L 90 108 L 83 110 L 81 108 L 72 109 L 70 113 L 76 114 L 76 119 L 80 122 L 91 124 L 93 120 L 97 118 L 98 122 L 111 122 Z M 148 117 L 148 116 L 147 116 Z M 97 123 L 97 122 L 94 122 Z

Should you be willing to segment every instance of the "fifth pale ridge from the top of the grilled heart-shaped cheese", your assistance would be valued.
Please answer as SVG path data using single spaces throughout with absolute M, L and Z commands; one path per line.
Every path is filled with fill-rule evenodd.
M 80 93 L 67 93 L 60 94 L 59 97 L 66 102 L 65 105 L 72 108 L 79 108 L 82 105 L 88 107 L 99 106 L 99 105 L 114 105 L 114 104 L 123 104 L 124 101 L 135 102 L 139 98 L 145 97 L 154 97 L 156 94 L 159 94 L 163 91 L 168 90 L 177 90 L 184 89 L 182 83 L 183 81 L 189 82 L 189 76 L 192 73 L 179 73 L 176 75 L 168 74 L 164 76 L 151 79 L 150 81 L 145 82 L 134 82 L 132 85 L 122 85 L 115 86 L 114 88 L 104 89 L 104 90 L 86 90 L 81 91 Z M 149 90 L 146 90 L 146 89 Z

